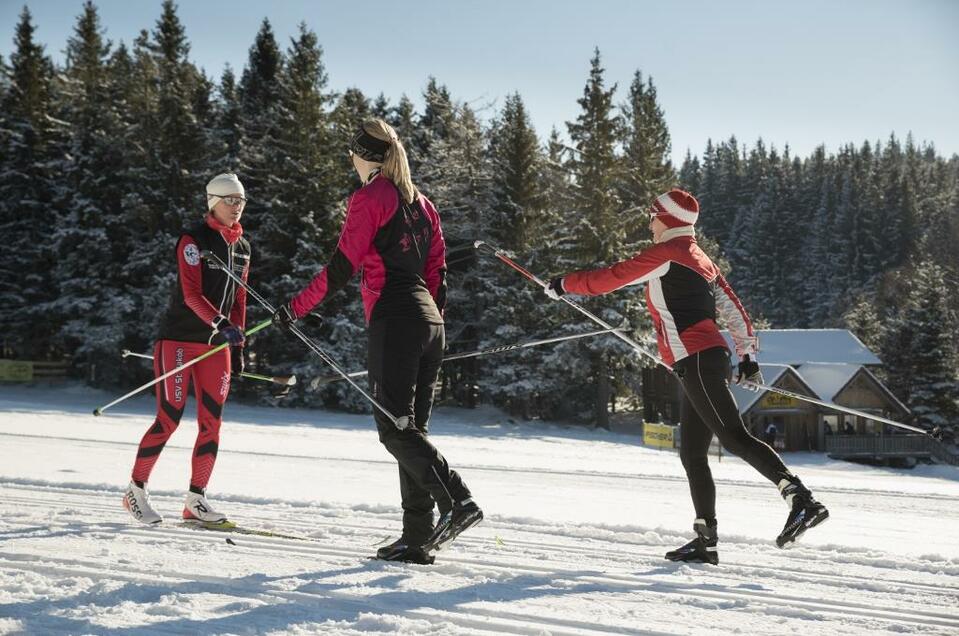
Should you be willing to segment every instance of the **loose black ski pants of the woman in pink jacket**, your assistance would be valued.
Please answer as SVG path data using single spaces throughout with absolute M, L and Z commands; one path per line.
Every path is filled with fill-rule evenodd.
M 415 318 L 381 318 L 369 328 L 370 390 L 402 420 L 400 428 L 379 409 L 373 410 L 380 441 L 399 463 L 403 538 L 408 545 L 429 538 L 434 502 L 442 515 L 470 496 L 427 437 L 445 339 L 443 325 Z

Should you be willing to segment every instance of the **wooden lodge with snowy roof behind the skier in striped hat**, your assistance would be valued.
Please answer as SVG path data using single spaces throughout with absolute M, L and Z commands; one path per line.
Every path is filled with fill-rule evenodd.
M 876 377 L 882 363 L 846 329 L 767 329 L 759 335 L 764 383 L 866 413 L 906 422 L 909 409 Z M 723 334 L 732 347 L 728 333 Z M 733 349 L 734 350 L 734 349 Z M 735 361 L 734 361 L 735 363 Z M 734 367 L 735 373 L 735 367 Z M 775 446 L 787 451 L 824 451 L 826 436 L 886 435 L 889 427 L 863 417 L 771 391 L 733 384 L 739 412 L 754 435 L 776 428 Z M 679 424 L 678 381 L 662 367 L 643 370 L 644 419 Z

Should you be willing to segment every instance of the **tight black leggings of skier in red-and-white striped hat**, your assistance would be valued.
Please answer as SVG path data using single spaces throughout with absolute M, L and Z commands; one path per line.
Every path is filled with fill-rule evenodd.
M 716 518 L 716 485 L 707 459 L 714 434 L 723 448 L 774 484 L 790 474 L 776 451 L 746 430 L 736 400 L 729 392 L 727 383 L 732 378 L 732 367 L 725 348 L 694 353 L 678 361 L 673 369 L 683 387 L 679 457 L 686 469 L 698 518 Z

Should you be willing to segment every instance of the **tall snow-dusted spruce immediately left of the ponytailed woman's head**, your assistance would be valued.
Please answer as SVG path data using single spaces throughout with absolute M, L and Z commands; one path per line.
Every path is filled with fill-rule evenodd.
M 288 296 L 306 285 L 336 249 L 346 197 L 358 185 L 347 156 L 347 142 L 356 127 L 370 116 L 370 110 L 369 100 L 358 89 L 345 91 L 335 108 L 330 108 L 334 96 L 326 91 L 322 49 L 306 25 L 300 25 L 299 36 L 286 58 L 283 111 L 290 120 L 283 126 L 287 131 L 283 144 L 287 163 L 280 170 L 291 182 L 284 196 L 284 206 L 291 215 L 284 228 L 292 239 L 287 253 L 293 255 L 286 264 L 289 275 L 282 277 Z M 293 215 L 297 218 L 293 219 Z M 366 342 L 357 287 L 354 281 L 349 289 L 323 304 L 321 325 L 310 324 L 309 320 L 305 323 L 321 341 L 328 343 L 326 350 L 335 360 L 351 368 L 362 365 Z M 299 356 L 290 352 L 294 359 L 302 360 L 298 372 L 307 377 L 330 372 L 315 355 L 303 350 L 298 342 L 294 344 L 301 351 Z M 368 409 L 362 396 L 345 383 L 325 385 L 319 392 L 308 387 L 304 400 L 312 404 L 322 400 L 324 404 L 353 411 Z

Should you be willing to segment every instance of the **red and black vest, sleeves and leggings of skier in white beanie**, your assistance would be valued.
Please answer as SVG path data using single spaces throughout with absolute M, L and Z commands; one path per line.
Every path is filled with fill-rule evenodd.
M 203 250 L 212 251 L 245 281 L 250 272 L 250 244 L 242 234 L 239 223 L 226 227 L 207 215 L 203 223 L 180 236 L 177 285 L 153 348 L 156 377 L 223 344 L 223 336 L 214 327 L 223 318 L 241 329 L 246 326 L 246 290 L 200 258 Z M 199 431 L 190 487 L 200 492 L 206 488 L 216 463 L 223 405 L 230 392 L 230 357 L 241 355 L 231 349 L 227 347 L 156 385 L 156 420 L 140 441 L 134 481 L 149 480 L 160 452 L 180 424 L 192 381 Z

